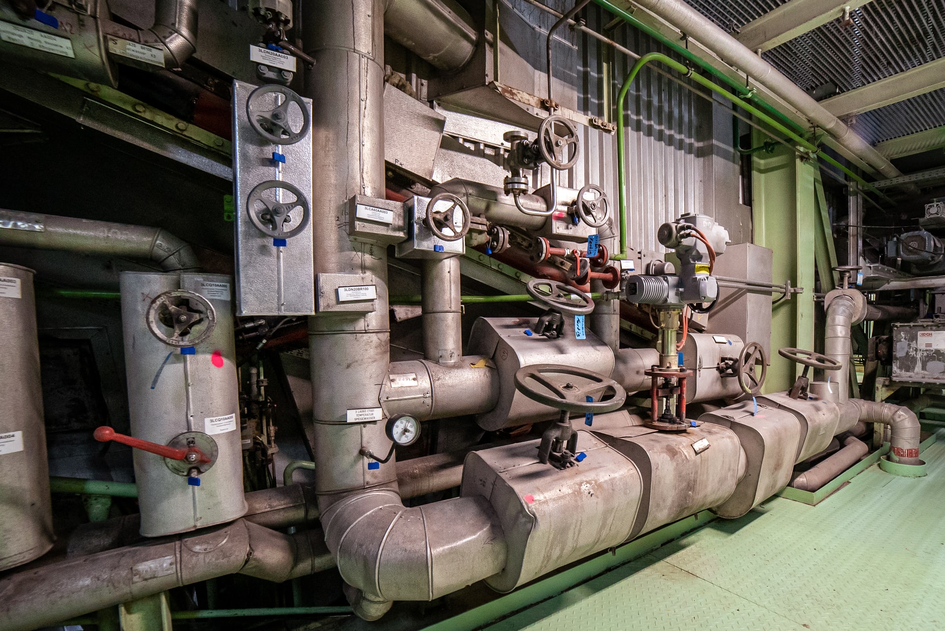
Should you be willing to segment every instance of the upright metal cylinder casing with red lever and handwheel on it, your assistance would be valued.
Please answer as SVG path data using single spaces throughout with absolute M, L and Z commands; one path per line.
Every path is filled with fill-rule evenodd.
M 232 277 L 123 272 L 122 323 L 141 534 L 162 537 L 241 517 Z

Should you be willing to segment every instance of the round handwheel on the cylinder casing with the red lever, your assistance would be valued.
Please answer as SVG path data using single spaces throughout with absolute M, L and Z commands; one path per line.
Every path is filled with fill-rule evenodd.
M 150 332 L 168 346 L 197 346 L 214 333 L 216 310 L 197 293 L 172 289 L 151 300 L 146 321 Z

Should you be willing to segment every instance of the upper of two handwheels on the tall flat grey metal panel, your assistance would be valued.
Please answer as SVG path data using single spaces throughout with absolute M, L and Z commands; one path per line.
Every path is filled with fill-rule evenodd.
M 293 104 L 299 113 L 294 113 Z M 253 90 L 246 101 L 246 115 L 249 126 L 275 145 L 298 143 L 312 125 L 305 101 L 281 85 L 264 85 Z

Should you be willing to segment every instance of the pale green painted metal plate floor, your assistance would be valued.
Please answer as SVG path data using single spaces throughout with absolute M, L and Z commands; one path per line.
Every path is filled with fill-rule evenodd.
M 922 457 L 925 478 L 774 498 L 489 629 L 945 629 L 945 430 Z

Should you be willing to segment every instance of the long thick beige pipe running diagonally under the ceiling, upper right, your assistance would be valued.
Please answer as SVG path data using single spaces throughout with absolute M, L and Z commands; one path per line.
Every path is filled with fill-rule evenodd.
M 902 175 L 892 162 L 886 160 L 879 151 L 818 104 L 793 81 L 784 77 L 774 66 L 748 50 L 744 44 L 715 26 L 711 20 L 682 0 L 634 0 L 634 3 L 652 11 L 685 33 L 687 37 L 706 46 L 721 60 L 738 68 L 772 93 L 782 97 L 816 127 L 824 129 L 833 136 L 839 145 L 863 159 L 886 178 L 897 178 Z

